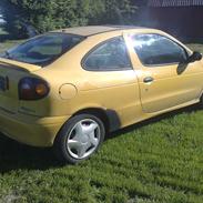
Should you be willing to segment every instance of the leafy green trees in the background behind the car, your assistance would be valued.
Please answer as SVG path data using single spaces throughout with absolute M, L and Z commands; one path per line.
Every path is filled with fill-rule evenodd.
M 139 0 L 1 0 L 0 7 L 6 30 L 26 38 L 28 28 L 42 33 L 85 24 L 132 24 Z

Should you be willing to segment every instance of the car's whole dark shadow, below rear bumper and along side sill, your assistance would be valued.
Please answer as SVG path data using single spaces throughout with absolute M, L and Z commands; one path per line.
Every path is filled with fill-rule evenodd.
M 115 139 L 142 126 L 156 123 L 161 120 L 173 118 L 181 113 L 192 113 L 199 111 L 197 105 L 173 111 L 146 121 L 133 124 L 108 135 L 108 139 Z M 63 166 L 53 155 L 52 149 L 39 149 L 20 144 L 0 134 L 0 173 L 13 170 L 41 170 Z

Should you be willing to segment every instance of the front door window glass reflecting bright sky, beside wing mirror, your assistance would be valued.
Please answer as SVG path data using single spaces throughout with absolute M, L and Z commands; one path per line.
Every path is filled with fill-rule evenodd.
M 160 34 L 138 34 L 131 38 L 134 50 L 144 65 L 181 63 L 187 59 L 186 51 Z

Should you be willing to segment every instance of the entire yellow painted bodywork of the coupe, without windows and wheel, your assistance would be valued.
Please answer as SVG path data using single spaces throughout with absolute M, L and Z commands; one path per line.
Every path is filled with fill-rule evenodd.
M 81 30 L 75 31 L 78 32 Z M 103 32 L 101 29 L 100 33 L 94 33 L 92 30 L 90 32 L 91 35 L 87 35 L 85 40 L 48 67 L 39 68 L 4 61 L 17 64 L 28 72 L 11 70 L 12 73 L 3 73 L 4 69 L 0 70 L 0 74 L 2 72 L 11 78 L 16 75 L 13 77 L 13 87 L 16 87 L 12 89 L 13 95 L 10 97 L 10 101 L 7 100 L 10 104 L 6 110 L 0 109 L 0 131 L 30 145 L 50 146 L 64 122 L 82 110 L 100 109 L 103 112 L 116 112 L 120 122 L 118 128 L 123 128 L 200 101 L 203 91 L 202 61 L 190 63 L 187 67 L 170 64 L 148 68 L 141 63 L 129 42 L 131 34 L 159 33 L 176 41 L 192 53 L 173 37 L 153 29 L 111 29 Z M 90 32 L 87 31 L 87 34 Z M 74 30 L 71 33 L 74 33 Z M 115 37 L 123 37 L 125 40 L 132 69 L 84 70 L 82 61 L 90 50 Z M 45 80 L 50 85 L 49 95 L 38 101 L 18 100 L 18 81 L 26 75 Z M 154 78 L 154 81 L 144 83 L 143 80 L 146 77 Z M 63 91 L 61 87 L 65 87 Z M 2 101 L 0 106 L 1 104 Z M 11 112 L 7 112 L 10 109 L 12 109 Z

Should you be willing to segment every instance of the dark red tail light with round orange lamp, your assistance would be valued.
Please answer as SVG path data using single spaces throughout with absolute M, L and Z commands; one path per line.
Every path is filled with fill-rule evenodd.
M 50 88 L 42 79 L 23 78 L 19 82 L 20 100 L 40 100 L 49 94 Z

